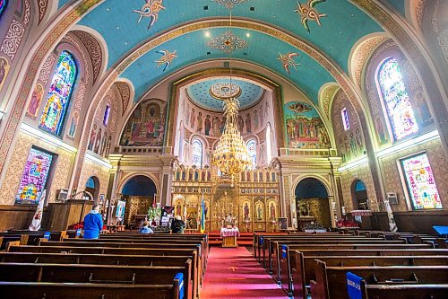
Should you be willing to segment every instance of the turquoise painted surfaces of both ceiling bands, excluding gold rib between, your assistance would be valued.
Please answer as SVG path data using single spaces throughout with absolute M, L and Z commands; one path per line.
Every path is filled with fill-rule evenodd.
M 60 1 L 60 4 L 63 2 L 66 0 Z M 238 3 L 238 1 L 233 2 Z M 297 38 L 306 40 L 315 48 L 319 48 L 346 73 L 349 53 L 353 45 L 367 34 L 383 31 L 366 13 L 346 0 L 327 0 L 316 4 L 314 8 L 326 16 L 320 18 L 322 27 L 317 22 L 308 22 L 309 33 L 300 22 L 300 16 L 295 13 L 297 1 L 246 0 L 239 2 L 241 4 L 236 4 L 232 9 L 234 18 L 263 22 L 289 31 Z M 305 0 L 300 2 L 306 3 Z M 205 18 L 228 18 L 229 16 L 229 10 L 213 0 L 163 0 L 164 9 L 159 11 L 158 19 L 153 26 L 147 29 L 150 18 L 142 18 L 142 21 L 138 22 L 139 14 L 134 13 L 134 10 L 141 10 L 143 4 L 146 4 L 146 0 L 106 0 L 79 22 L 98 31 L 106 41 L 108 68 L 116 66 L 119 61 L 132 53 L 134 48 L 163 31 Z M 192 66 L 208 59 L 228 59 L 228 53 L 207 46 L 207 41 L 225 31 L 228 31 L 228 28 L 209 28 L 204 31 L 185 33 L 168 40 L 159 48 L 137 59 L 121 75 L 133 82 L 136 91 L 134 100 L 138 101 L 154 84 L 185 66 Z M 317 102 L 317 93 L 323 84 L 335 81 L 314 58 L 308 57 L 288 43 L 258 31 L 236 28 L 232 31 L 239 38 L 246 40 L 248 45 L 246 48 L 235 50 L 232 53 L 233 58 L 264 66 L 285 77 L 305 92 L 311 101 Z M 206 33 L 209 36 L 206 36 Z M 176 51 L 177 57 L 173 59 L 165 72 L 164 66 L 157 68 L 154 63 L 160 58 L 156 50 Z M 277 59 L 279 53 L 289 52 L 299 54 L 295 57 L 295 61 L 301 65 L 297 66 L 297 71 L 290 67 L 290 75 Z

